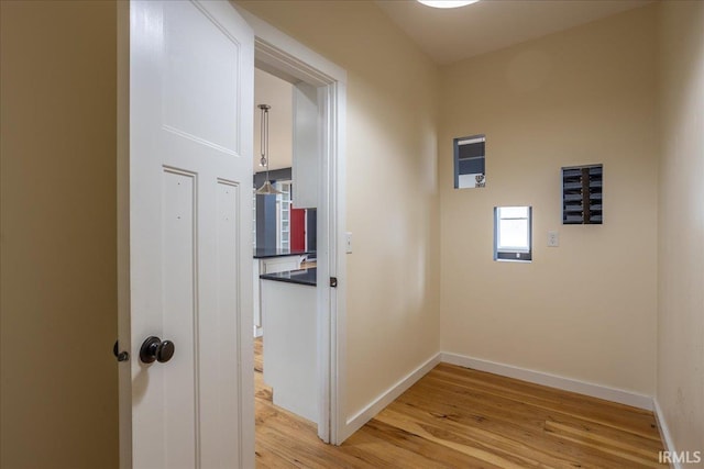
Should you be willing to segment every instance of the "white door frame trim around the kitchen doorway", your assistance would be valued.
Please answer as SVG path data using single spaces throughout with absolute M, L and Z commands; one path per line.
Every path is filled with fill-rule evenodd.
M 318 183 L 318 436 L 339 445 L 348 435 L 345 372 L 345 107 L 346 71 L 237 7 L 254 31 L 257 68 L 318 87 L 321 142 Z M 321 236 L 322 234 L 322 236 Z M 323 261 L 320 261 L 321 256 Z M 330 278 L 338 287 L 330 287 Z

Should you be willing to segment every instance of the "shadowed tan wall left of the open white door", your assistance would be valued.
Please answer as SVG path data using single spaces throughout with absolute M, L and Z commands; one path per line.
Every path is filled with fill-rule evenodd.
M 1 4 L 0 466 L 117 467 L 116 7 Z

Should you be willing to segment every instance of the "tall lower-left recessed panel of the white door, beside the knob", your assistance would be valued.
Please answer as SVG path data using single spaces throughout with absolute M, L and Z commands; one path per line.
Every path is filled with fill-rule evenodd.
M 164 416 L 164 465 L 178 467 L 190 461 L 195 467 L 200 437 L 197 395 L 195 387 L 183 383 L 196 382 L 198 376 L 197 330 L 194 327 L 198 324 L 194 301 L 197 295 L 194 268 L 198 265 L 194 236 L 198 220 L 194 205 L 197 185 L 191 174 L 165 169 L 163 175 L 162 281 L 166 294 L 161 314 L 161 338 L 177 344 L 178 354 L 165 366 L 155 364 L 148 369 L 150 373 L 156 369 L 163 373 L 163 389 L 158 394 L 147 393 L 151 399 L 142 405 L 161 407 Z M 158 381 L 154 380 L 150 386 Z

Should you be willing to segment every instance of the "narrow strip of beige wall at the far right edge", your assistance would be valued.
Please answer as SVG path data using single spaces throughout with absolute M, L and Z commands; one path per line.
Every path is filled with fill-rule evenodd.
M 660 57 L 657 400 L 672 449 L 704 451 L 704 2 L 662 2 Z

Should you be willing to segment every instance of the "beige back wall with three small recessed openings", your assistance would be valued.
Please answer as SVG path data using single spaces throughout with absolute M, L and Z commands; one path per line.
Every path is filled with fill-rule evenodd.
M 441 348 L 652 395 L 656 9 L 441 69 Z M 486 134 L 485 189 L 452 138 Z M 604 224 L 562 225 L 560 168 L 604 164 Z M 531 264 L 493 260 L 493 208 L 532 205 Z M 560 247 L 547 247 L 557 230 Z

